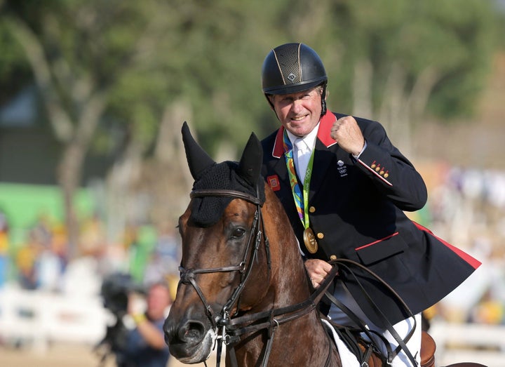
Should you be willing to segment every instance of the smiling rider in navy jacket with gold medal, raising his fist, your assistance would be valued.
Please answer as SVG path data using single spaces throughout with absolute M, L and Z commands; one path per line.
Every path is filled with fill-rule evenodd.
M 290 218 L 314 287 L 330 271 L 328 260 L 354 260 L 375 272 L 416 315 L 417 327 L 362 269 L 354 269 L 356 278 L 341 269 L 334 295 L 391 342 L 393 366 L 419 364 L 420 313 L 480 262 L 407 218 L 403 211 L 427 200 L 421 175 L 378 122 L 328 111 L 327 82 L 321 58 L 304 44 L 267 55 L 262 88 L 281 127 L 262 140 L 262 174 Z M 330 316 L 353 324 L 337 307 Z

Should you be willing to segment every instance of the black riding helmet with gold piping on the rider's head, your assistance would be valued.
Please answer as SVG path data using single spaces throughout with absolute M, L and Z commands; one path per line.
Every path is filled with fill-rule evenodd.
M 271 50 L 263 62 L 262 88 L 268 95 L 290 94 L 323 86 L 321 116 L 326 113 L 326 76 L 319 55 L 307 45 L 283 44 Z M 273 107 L 273 106 L 272 106 Z

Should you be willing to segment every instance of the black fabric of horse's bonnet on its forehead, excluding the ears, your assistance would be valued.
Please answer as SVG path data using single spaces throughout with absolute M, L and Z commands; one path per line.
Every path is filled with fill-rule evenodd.
M 260 194 L 260 200 L 264 202 L 264 181 L 258 180 L 258 189 L 250 185 L 238 173 L 238 164 L 233 161 L 224 161 L 220 164 L 210 166 L 202 177 L 194 182 L 193 190 L 201 189 L 224 189 L 235 190 L 257 196 Z M 210 227 L 220 220 L 224 209 L 228 206 L 231 197 L 205 196 L 196 197 L 191 201 L 190 220 L 200 227 Z

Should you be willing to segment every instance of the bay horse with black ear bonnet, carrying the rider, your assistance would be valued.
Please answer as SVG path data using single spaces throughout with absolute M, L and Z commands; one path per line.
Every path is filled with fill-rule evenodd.
M 332 277 L 311 288 L 281 201 L 260 175 L 260 141 L 251 134 L 238 163 L 217 164 L 185 122 L 182 139 L 195 182 L 179 218 L 180 282 L 163 326 L 170 354 L 205 363 L 217 345 L 219 366 L 224 344 L 232 367 L 342 367 L 349 349 L 335 345 L 317 308 Z

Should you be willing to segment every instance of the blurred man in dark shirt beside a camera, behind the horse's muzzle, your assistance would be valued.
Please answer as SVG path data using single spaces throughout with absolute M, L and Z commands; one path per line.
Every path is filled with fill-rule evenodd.
M 145 312 L 140 312 L 142 302 L 132 293 L 128 297 L 128 314 L 135 328 L 126 336 L 123 350 L 116 355 L 118 367 L 166 367 L 168 345 L 163 334 L 163 323 L 172 304 L 170 291 L 165 283 L 149 287 Z

